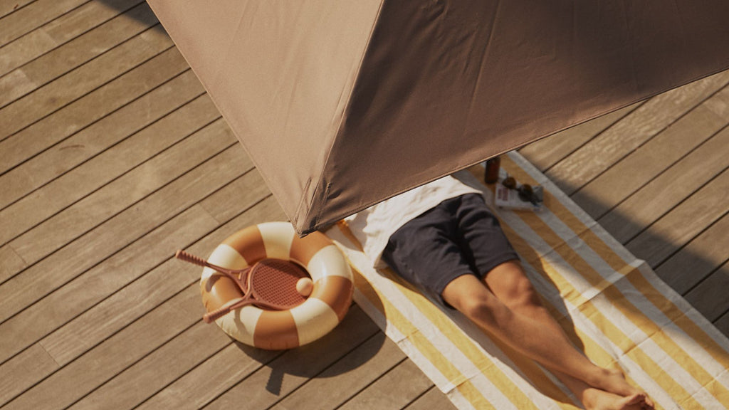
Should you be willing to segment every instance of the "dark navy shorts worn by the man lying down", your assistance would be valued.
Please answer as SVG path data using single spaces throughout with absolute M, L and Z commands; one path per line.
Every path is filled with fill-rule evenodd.
M 390 236 L 382 259 L 400 276 L 440 301 L 453 279 L 482 278 L 518 259 L 483 197 L 469 193 L 447 199 L 402 225 Z

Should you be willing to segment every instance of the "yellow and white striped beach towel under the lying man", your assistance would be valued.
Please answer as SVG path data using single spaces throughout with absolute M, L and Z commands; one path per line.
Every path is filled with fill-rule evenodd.
M 658 409 L 729 408 L 725 336 L 521 155 L 504 155 L 502 167 L 520 182 L 545 187 L 543 211 L 495 212 L 573 343 L 598 365 L 622 368 Z M 472 173 L 483 175 L 483 167 Z M 346 227 L 330 228 L 327 235 L 354 268 L 356 303 L 456 407 L 577 407 L 548 371 L 427 300 L 388 269 L 370 268 Z

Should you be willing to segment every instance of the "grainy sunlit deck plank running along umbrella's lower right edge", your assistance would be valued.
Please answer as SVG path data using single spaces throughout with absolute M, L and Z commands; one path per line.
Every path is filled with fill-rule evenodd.
M 567 195 L 574 193 L 728 82 L 729 71 L 723 71 L 650 98 L 619 123 L 553 166 L 547 171 L 547 177 Z

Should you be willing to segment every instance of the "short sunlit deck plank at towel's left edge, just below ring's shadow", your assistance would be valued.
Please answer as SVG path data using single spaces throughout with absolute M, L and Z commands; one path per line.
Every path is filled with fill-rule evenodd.
M 383 374 L 377 382 L 355 395 L 340 409 L 402 409 L 432 386 L 433 383 L 415 363 L 403 360 L 391 371 Z

